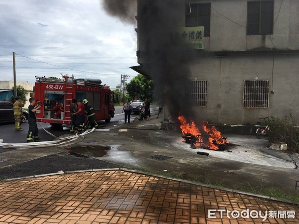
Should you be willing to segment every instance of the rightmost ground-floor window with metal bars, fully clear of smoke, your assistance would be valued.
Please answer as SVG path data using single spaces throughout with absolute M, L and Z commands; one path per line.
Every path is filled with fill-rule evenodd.
M 244 108 L 268 108 L 269 80 L 244 80 Z

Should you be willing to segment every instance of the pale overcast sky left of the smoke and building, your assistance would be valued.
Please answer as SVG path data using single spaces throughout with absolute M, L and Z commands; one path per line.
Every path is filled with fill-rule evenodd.
M 62 73 L 115 88 L 121 74 L 137 76 L 135 28 L 101 0 L 0 0 L 0 81 L 13 81 L 15 52 L 17 82 Z

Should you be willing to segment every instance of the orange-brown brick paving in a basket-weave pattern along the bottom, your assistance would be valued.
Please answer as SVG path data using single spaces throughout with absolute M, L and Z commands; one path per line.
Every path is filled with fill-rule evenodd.
M 268 216 L 262 221 L 229 219 L 226 213 L 222 219 L 220 213 L 215 213 L 217 218 L 208 219 L 209 209 L 294 212 L 289 216 L 281 213 L 284 219 Z M 299 224 L 299 207 L 196 184 L 110 170 L 2 182 L 0 223 Z

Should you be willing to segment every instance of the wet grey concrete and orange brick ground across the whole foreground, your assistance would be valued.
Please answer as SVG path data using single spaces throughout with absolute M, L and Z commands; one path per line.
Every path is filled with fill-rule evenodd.
M 0 223 L 299 223 L 294 203 L 232 190 L 298 197 L 298 154 L 250 135 L 226 135 L 231 145 L 220 151 L 192 149 L 160 121 L 120 121 L 64 148 L 1 152 Z

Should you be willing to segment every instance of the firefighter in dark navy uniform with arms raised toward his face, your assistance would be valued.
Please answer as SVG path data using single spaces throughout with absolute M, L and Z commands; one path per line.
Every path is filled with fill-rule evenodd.
M 35 112 L 41 108 L 41 103 L 38 102 L 36 106 L 34 106 L 35 100 L 33 98 L 29 99 L 29 116 L 28 116 L 28 124 L 29 124 L 29 130 L 27 134 L 27 142 L 33 142 L 34 140 L 39 140 L 40 137 L 38 137 L 38 127 L 36 123 L 36 116 Z

